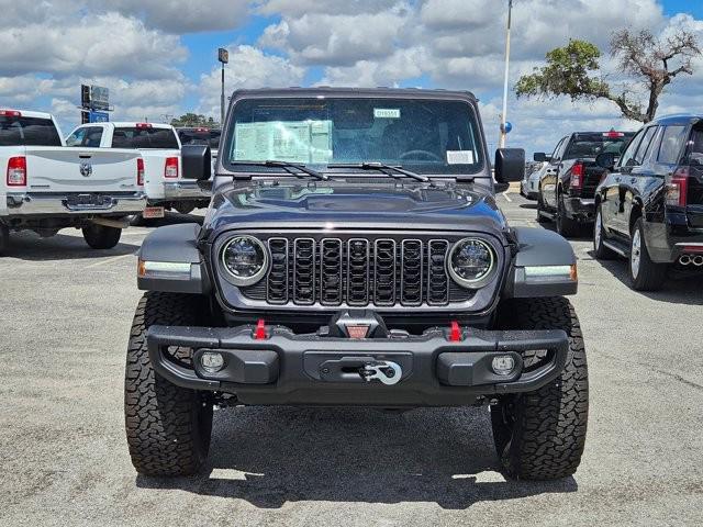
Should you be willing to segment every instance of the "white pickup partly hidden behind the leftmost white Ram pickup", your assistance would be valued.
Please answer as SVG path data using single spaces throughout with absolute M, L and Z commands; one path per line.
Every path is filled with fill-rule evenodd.
M 210 192 L 198 181 L 182 177 L 181 143 L 169 124 L 158 123 L 92 123 L 74 130 L 66 139 L 68 146 L 100 148 L 137 148 L 146 168 L 144 189 L 148 206 L 144 217 L 163 217 L 165 209 L 188 214 L 210 203 Z

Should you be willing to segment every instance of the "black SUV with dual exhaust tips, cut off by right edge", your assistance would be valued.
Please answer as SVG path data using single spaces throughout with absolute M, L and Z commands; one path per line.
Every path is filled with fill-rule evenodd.
M 703 114 L 661 117 L 641 128 L 595 191 L 593 247 L 628 258 L 632 287 L 661 288 L 667 270 L 703 270 Z

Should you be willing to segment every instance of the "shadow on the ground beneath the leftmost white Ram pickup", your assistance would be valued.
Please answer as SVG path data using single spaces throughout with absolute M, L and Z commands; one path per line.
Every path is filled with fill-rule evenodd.
M 82 236 L 57 234 L 49 238 L 23 231 L 10 234 L 10 246 L 3 258 L 18 258 L 27 261 L 78 260 L 104 258 L 109 256 L 133 255 L 140 245 L 120 242 L 112 249 L 97 250 L 88 247 Z

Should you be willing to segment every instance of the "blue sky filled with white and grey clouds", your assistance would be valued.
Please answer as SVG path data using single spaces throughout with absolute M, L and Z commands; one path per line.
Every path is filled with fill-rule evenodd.
M 0 108 L 54 112 L 77 124 L 79 85 L 111 90 L 113 120 L 219 115 L 219 46 L 238 87 L 459 88 L 481 100 L 498 139 L 507 0 L 0 0 Z M 569 37 L 607 49 L 622 26 L 684 25 L 703 42 L 701 0 L 514 0 L 511 78 Z M 611 66 L 604 60 L 604 68 Z M 703 109 L 703 60 L 660 113 Z M 609 102 L 515 101 L 511 146 L 550 150 L 573 130 L 635 130 Z

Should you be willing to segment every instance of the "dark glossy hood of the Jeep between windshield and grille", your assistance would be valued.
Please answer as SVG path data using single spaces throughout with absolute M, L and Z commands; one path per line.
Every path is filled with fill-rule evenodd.
M 455 183 L 310 181 L 222 188 L 205 226 L 230 224 L 502 231 L 505 218 L 491 194 Z

